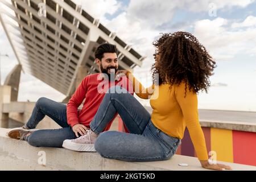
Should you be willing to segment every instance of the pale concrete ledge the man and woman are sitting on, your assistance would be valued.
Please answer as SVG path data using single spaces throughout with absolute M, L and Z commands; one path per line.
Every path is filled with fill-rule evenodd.
M 0 128 L 0 170 L 199 170 L 199 160 L 182 155 L 174 155 L 170 160 L 159 162 L 123 162 L 102 158 L 96 152 L 75 152 L 64 148 L 32 147 L 27 142 L 6 137 L 10 129 Z M 41 165 L 40 151 L 46 154 L 46 165 Z M 187 163 L 188 167 L 178 166 Z M 255 166 L 225 163 L 234 170 L 255 170 Z

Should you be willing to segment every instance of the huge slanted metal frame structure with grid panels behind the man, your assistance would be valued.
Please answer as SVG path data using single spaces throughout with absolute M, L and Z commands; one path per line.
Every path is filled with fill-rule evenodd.
M 46 16 L 39 14 L 40 3 Z M 101 43 L 117 45 L 121 69 L 144 59 L 71 0 L 0 0 L 0 20 L 22 71 L 66 96 L 75 91 L 80 66 L 98 72 L 93 53 Z

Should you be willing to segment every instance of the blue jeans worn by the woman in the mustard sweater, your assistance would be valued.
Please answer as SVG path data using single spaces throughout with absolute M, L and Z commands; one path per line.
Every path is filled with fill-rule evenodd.
M 115 93 L 123 90 L 123 93 Z M 105 131 L 105 126 L 118 112 L 130 133 Z M 105 158 L 125 161 L 154 161 L 170 159 L 180 144 L 180 139 L 159 130 L 151 122 L 151 115 L 127 91 L 113 86 L 90 123 L 94 133 L 100 134 L 94 144 Z

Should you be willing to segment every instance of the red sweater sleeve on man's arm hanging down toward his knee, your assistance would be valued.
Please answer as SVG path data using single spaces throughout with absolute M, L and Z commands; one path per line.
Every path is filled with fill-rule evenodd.
M 86 76 L 81 81 L 78 88 L 76 89 L 76 92 L 72 95 L 71 99 L 68 101 L 67 121 L 71 127 L 79 124 L 79 117 L 78 117 L 77 109 L 81 105 L 82 101 L 85 98 L 85 94 L 87 92 L 88 79 L 89 79 L 89 76 Z

